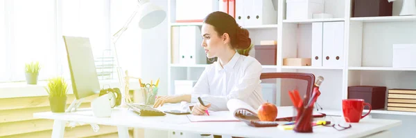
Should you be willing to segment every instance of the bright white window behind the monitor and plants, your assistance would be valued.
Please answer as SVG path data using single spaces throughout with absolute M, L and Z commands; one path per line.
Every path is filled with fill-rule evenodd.
M 110 0 L 1 1 L 0 82 L 26 81 L 30 61 L 40 62 L 40 80 L 70 79 L 62 35 L 89 37 L 94 57 L 112 57 L 109 16 Z M 112 71 L 99 79 L 116 78 Z

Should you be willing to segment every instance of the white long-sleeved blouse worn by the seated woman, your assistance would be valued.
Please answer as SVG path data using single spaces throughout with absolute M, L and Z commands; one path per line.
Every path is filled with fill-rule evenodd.
M 263 68 L 253 57 L 238 52 L 221 67 L 218 61 L 207 66 L 191 92 L 191 103 L 201 97 L 209 110 L 228 110 L 229 99 L 240 99 L 257 109 L 264 103 L 261 94 L 260 75 Z

